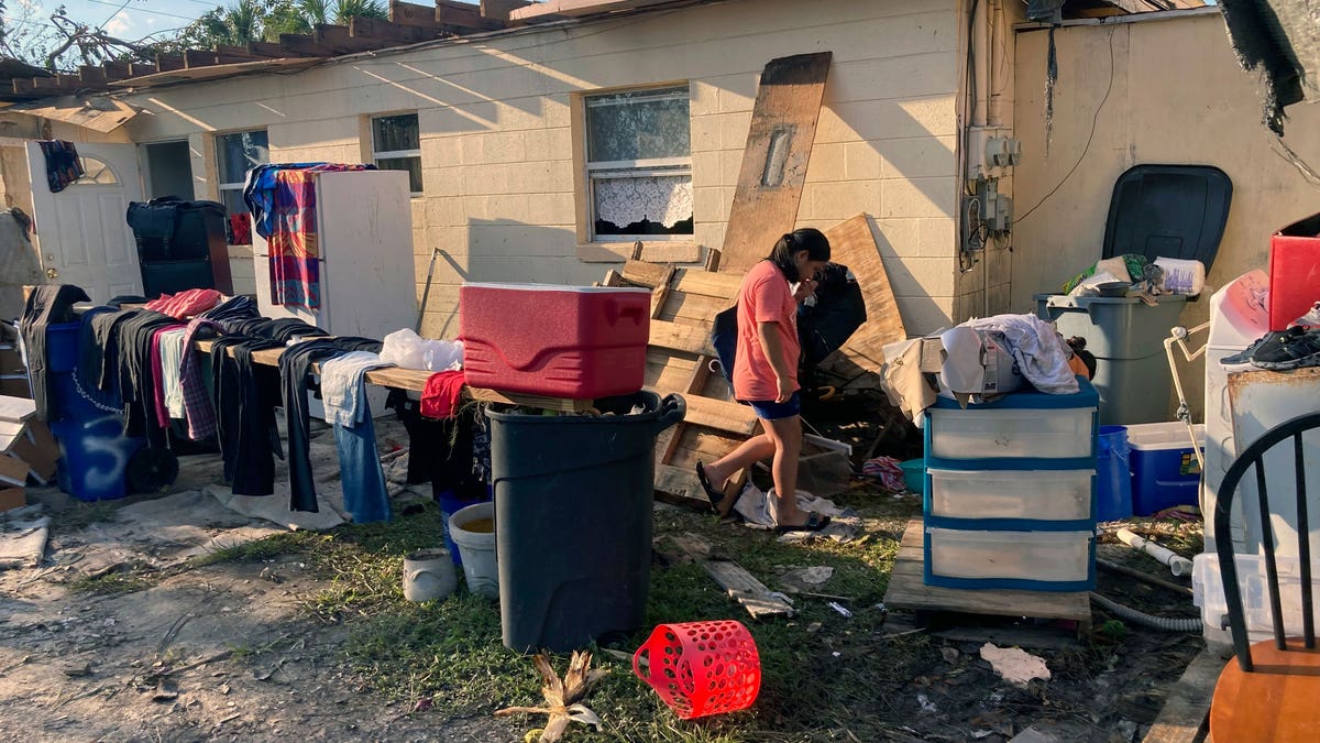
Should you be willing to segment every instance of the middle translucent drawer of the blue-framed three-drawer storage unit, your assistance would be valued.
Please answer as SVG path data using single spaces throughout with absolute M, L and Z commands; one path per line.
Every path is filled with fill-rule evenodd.
M 1093 469 L 931 469 L 931 516 L 1090 518 Z

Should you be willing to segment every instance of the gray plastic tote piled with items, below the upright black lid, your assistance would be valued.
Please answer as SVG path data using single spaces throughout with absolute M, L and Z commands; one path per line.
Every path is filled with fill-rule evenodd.
M 1065 337 L 1086 338 L 1096 354 L 1101 426 L 1168 419 L 1172 377 L 1164 338 L 1177 325 L 1187 297 L 1166 295 L 1154 307 L 1137 297 L 1040 293 L 1036 316 L 1052 320 Z

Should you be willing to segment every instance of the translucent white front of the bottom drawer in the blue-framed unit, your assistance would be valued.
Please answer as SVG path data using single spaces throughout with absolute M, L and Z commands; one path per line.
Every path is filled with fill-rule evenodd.
M 1086 580 L 1090 531 L 972 531 L 927 528 L 931 572 L 945 578 Z

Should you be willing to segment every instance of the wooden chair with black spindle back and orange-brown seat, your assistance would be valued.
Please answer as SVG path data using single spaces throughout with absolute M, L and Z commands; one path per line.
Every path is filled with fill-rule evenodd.
M 1315 611 L 1311 595 L 1311 525 L 1307 513 L 1305 451 L 1302 435 L 1320 428 L 1320 412 L 1294 418 L 1267 431 L 1229 467 L 1214 505 L 1214 541 L 1220 558 L 1224 598 L 1228 603 L 1229 628 L 1237 662 L 1229 662 L 1220 674 L 1210 702 L 1210 736 L 1216 743 L 1305 742 L 1320 740 L 1320 650 L 1316 649 Z M 1274 529 L 1270 524 L 1270 496 L 1266 489 L 1265 455 L 1276 444 L 1292 442 L 1298 505 L 1298 562 L 1300 563 L 1303 636 L 1287 637 L 1279 591 L 1279 572 Z M 1288 447 L 1280 447 L 1287 450 Z M 1320 450 L 1309 452 L 1312 459 Z M 1237 562 L 1229 513 L 1238 485 L 1249 469 L 1255 471 L 1261 509 L 1261 541 L 1265 547 L 1266 583 L 1270 592 L 1270 616 L 1274 639 L 1251 644 L 1242 608 Z M 1287 471 L 1286 471 L 1287 472 Z M 1284 476 L 1288 476 L 1287 473 Z M 1275 481 L 1278 484 L 1278 481 Z M 1250 504 L 1243 502 L 1243 508 Z

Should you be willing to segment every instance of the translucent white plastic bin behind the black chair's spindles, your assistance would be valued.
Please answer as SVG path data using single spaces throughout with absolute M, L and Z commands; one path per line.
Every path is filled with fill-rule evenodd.
M 1265 576 L 1263 555 L 1237 555 L 1238 588 L 1242 594 L 1242 615 L 1253 643 L 1274 636 L 1274 620 L 1270 616 L 1270 588 Z M 1279 568 L 1279 604 L 1283 608 L 1283 629 L 1288 636 L 1302 636 L 1302 567 L 1298 558 L 1276 558 Z M 1192 603 L 1201 607 L 1201 620 L 1205 623 L 1205 640 L 1214 644 L 1232 644 L 1233 636 L 1228 628 L 1229 603 L 1224 598 L 1224 580 L 1220 575 L 1220 558 L 1216 554 L 1199 554 L 1192 559 Z M 1311 575 L 1312 600 L 1320 607 L 1320 572 Z M 1320 611 L 1317 611 L 1320 615 Z M 1320 627 L 1320 616 L 1316 617 Z

